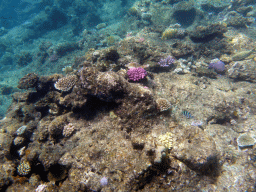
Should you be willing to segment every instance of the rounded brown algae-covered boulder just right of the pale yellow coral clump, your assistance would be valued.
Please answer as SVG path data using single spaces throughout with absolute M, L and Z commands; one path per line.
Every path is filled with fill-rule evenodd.
M 218 152 L 213 139 L 198 127 L 186 127 L 173 133 L 173 154 L 189 168 L 202 174 L 216 170 Z

